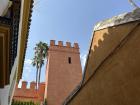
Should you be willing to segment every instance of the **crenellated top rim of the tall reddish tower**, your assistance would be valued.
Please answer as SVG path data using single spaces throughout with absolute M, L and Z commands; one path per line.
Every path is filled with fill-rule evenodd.
M 79 49 L 78 43 L 74 43 L 71 45 L 71 42 L 66 42 L 66 44 L 63 44 L 63 41 L 58 41 L 58 44 L 55 43 L 55 40 L 50 40 L 50 47 L 51 46 L 58 46 L 58 47 L 67 47 L 67 48 L 76 48 Z

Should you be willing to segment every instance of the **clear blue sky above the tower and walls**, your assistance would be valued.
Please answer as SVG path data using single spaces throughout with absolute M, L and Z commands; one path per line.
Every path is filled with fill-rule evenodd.
M 35 0 L 22 80 L 35 81 L 31 59 L 37 42 L 78 42 L 84 66 L 94 25 L 132 10 L 128 0 Z M 44 79 L 45 66 L 41 81 Z

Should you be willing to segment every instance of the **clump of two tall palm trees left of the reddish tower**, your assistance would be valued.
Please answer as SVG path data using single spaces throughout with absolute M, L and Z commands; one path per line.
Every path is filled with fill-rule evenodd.
M 43 42 L 39 42 L 34 47 L 35 55 L 32 60 L 32 65 L 36 67 L 36 87 L 40 83 L 41 68 L 44 65 L 44 60 L 47 57 L 48 45 Z

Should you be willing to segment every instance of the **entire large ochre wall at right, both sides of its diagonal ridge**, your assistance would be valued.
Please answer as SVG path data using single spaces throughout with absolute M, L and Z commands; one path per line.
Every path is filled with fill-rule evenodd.
M 82 88 L 67 105 L 140 105 L 140 25 L 95 31 Z

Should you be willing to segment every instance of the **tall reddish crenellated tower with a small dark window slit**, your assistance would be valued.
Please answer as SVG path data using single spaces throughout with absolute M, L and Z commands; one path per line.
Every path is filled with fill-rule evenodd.
M 61 105 L 82 80 L 82 67 L 78 43 L 50 41 L 46 68 L 46 91 L 48 105 Z

